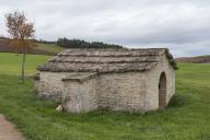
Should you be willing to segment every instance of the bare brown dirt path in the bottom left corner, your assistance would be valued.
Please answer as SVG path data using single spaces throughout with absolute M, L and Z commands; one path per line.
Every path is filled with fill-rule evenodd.
M 24 140 L 23 136 L 14 129 L 14 125 L 5 120 L 0 114 L 0 140 Z

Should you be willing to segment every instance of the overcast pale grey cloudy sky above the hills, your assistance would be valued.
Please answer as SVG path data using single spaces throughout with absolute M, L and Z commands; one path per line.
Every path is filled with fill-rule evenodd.
M 24 11 L 36 38 L 80 38 L 126 47 L 168 47 L 175 57 L 210 54 L 210 0 L 0 0 Z

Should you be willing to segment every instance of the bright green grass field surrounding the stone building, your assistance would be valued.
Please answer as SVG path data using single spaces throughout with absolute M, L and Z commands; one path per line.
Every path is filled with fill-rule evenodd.
M 27 73 L 46 56 L 28 56 Z M 37 97 L 33 80 L 19 80 L 20 56 L 0 54 L 0 113 L 28 140 L 210 140 L 210 65 L 179 63 L 176 95 L 165 110 L 147 114 L 67 114 Z

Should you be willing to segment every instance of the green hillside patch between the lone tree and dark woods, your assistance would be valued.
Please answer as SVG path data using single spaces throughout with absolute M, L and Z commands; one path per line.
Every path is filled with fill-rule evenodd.
M 44 50 L 44 51 L 48 51 L 48 52 L 52 52 L 52 54 L 58 54 L 58 52 L 65 50 L 65 48 L 62 48 L 56 44 L 37 44 L 35 49 Z

